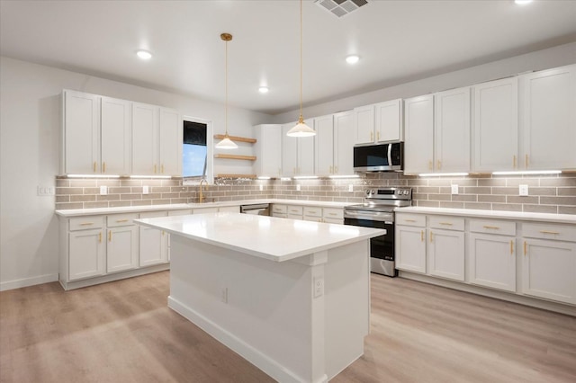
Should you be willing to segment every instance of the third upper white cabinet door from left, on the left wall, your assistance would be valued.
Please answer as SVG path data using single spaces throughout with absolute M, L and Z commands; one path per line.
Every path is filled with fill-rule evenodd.
M 132 102 L 132 174 L 157 173 L 158 110 L 154 105 Z

